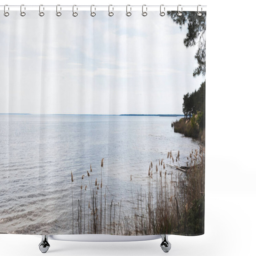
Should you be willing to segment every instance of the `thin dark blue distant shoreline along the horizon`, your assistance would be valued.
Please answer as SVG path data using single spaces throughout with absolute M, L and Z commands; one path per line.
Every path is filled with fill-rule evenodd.
M 34 116 L 184 116 L 180 114 L 121 114 L 121 115 L 104 115 L 104 114 L 19 114 L 19 113 L 0 113 L 0 115 L 34 115 Z

